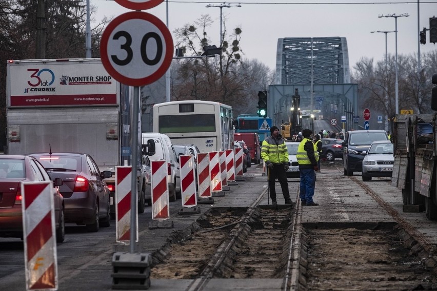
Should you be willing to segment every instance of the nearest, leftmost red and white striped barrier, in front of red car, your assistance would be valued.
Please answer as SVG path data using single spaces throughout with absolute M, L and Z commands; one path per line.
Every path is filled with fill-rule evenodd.
M 21 193 L 26 290 L 57 290 L 53 183 L 23 182 Z

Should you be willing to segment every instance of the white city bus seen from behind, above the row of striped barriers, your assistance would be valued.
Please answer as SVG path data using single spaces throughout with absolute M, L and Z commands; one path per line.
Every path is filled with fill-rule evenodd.
M 173 144 L 195 144 L 201 152 L 233 149 L 232 107 L 212 101 L 185 100 L 153 106 L 153 131 Z

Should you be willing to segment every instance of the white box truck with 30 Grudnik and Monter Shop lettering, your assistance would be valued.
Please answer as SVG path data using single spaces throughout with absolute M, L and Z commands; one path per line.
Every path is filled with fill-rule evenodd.
M 98 58 L 9 60 L 6 152 L 91 155 L 100 171 L 113 173 L 105 180 L 113 216 L 115 167 L 131 165 L 133 128 L 138 128 L 137 157 L 141 157 L 141 114 L 136 113 L 138 125 L 132 127 L 132 91 L 113 79 Z M 138 213 L 143 213 L 140 159 L 137 165 Z

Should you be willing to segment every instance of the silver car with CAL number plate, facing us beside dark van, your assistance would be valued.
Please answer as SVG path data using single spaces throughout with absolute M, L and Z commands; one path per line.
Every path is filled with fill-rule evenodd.
M 363 181 L 370 181 L 372 177 L 391 177 L 393 163 L 393 144 L 388 140 L 373 141 L 363 159 Z

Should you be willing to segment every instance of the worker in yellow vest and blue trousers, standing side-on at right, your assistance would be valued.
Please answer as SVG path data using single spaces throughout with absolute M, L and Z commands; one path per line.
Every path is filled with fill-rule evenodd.
M 319 206 L 312 199 L 314 196 L 315 171 L 319 170 L 319 167 L 317 167 L 319 153 L 311 140 L 311 134 L 312 131 L 310 129 L 304 129 L 302 131 L 304 139 L 299 144 L 299 147 L 297 147 L 296 158 L 297 162 L 299 162 L 299 172 L 301 174 L 299 196 L 302 205 Z

